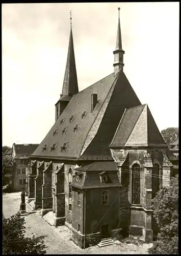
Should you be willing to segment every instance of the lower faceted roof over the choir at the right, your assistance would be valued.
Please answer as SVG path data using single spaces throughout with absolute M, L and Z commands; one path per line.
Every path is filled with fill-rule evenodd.
M 166 146 L 147 104 L 127 109 L 110 147 Z

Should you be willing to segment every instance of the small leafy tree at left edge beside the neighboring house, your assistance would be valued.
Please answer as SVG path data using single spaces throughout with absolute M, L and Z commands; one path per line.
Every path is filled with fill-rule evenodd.
M 12 183 L 14 163 L 15 163 L 15 160 L 13 157 L 8 155 L 3 155 L 2 157 L 3 186 L 10 185 Z

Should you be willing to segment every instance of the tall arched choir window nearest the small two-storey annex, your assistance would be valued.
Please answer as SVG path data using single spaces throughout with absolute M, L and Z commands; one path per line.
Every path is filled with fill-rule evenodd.
M 140 204 L 140 165 L 132 166 L 132 204 Z

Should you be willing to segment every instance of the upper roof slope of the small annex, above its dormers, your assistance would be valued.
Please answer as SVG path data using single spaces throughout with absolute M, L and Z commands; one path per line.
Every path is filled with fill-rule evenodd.
M 83 172 L 107 172 L 112 170 L 117 170 L 117 164 L 114 161 L 101 161 L 94 162 L 88 165 L 76 168 L 76 170 L 81 170 Z

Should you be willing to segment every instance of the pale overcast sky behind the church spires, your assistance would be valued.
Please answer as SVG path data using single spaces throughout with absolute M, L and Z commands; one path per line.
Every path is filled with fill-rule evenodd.
M 3 4 L 3 145 L 40 143 L 55 122 L 70 10 L 79 90 L 114 72 L 118 7 L 124 73 L 159 130 L 178 127 L 179 2 Z

